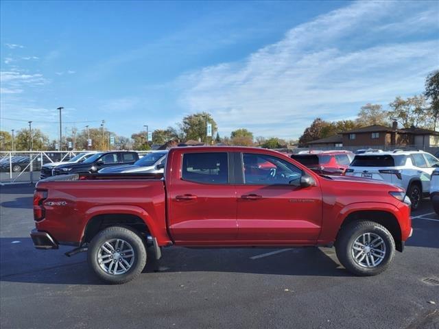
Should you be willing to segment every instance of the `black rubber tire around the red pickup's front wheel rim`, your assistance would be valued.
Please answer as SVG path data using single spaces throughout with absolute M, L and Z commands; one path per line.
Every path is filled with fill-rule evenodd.
M 385 245 L 385 254 L 383 259 L 380 260 L 381 263 L 373 267 L 361 266 L 354 258 L 354 253 L 357 252 L 353 250 L 354 242 L 359 236 L 365 233 L 371 233 L 372 236 L 379 236 Z M 390 263 L 392 263 L 395 254 L 395 242 L 392 234 L 379 223 L 373 221 L 355 221 L 340 230 L 337 241 L 335 241 L 335 251 L 340 263 L 351 273 L 356 276 L 376 276 L 385 271 Z

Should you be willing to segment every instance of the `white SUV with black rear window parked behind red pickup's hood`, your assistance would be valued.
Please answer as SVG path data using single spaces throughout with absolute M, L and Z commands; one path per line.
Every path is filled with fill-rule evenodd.
M 358 154 L 346 169 L 346 176 L 385 180 L 405 188 L 418 208 L 423 195 L 430 191 L 430 178 L 439 160 L 424 151 L 401 151 Z

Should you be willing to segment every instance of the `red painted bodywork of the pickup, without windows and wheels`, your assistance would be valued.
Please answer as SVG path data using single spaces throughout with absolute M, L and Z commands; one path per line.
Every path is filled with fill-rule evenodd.
M 229 158 L 242 152 L 274 156 L 311 175 L 316 184 L 300 187 L 185 181 L 181 178 L 182 154 L 190 152 L 228 152 Z M 352 177 L 324 178 L 268 149 L 174 148 L 167 156 L 165 180 L 82 176 L 73 181 L 40 181 L 36 188 L 47 191 L 46 199 L 38 199 L 45 208 L 45 218 L 36 221 L 36 228 L 48 232 L 58 243 L 80 245 L 88 221 L 104 214 L 139 217 L 158 245 L 326 245 L 335 241 L 348 215 L 364 210 L 380 210 L 396 218 L 402 241 L 411 230 L 409 206 L 389 195 L 401 188 Z M 243 199 L 242 195 L 260 197 Z

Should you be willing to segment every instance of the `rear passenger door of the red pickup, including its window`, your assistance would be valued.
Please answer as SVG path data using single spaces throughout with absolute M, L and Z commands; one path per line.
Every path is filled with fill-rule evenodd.
M 229 157 L 224 151 L 189 149 L 172 157 L 168 219 L 177 244 L 224 245 L 237 238 L 237 198 L 230 184 Z

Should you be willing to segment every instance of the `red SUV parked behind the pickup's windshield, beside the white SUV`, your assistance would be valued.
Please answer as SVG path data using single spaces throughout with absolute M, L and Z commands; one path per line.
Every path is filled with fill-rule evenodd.
M 351 151 L 310 151 L 306 154 L 292 154 L 291 158 L 322 175 L 343 175 L 355 154 Z

